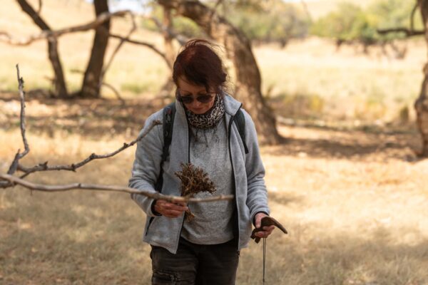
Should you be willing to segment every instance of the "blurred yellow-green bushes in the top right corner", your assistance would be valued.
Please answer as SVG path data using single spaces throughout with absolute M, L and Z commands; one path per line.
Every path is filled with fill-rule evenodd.
M 343 2 L 337 6 L 336 11 L 312 24 L 310 33 L 339 41 L 358 41 L 365 44 L 403 38 L 403 33 L 381 35 L 377 33 L 377 29 L 409 28 L 414 4 L 414 1 L 382 0 L 362 9 L 356 4 Z M 416 14 L 414 23 L 415 28 L 422 27 L 419 13 Z

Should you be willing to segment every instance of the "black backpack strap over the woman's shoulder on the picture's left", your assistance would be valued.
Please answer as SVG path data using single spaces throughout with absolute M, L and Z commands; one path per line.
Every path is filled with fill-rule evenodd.
M 175 117 L 175 102 L 163 108 L 163 148 L 161 157 L 161 171 L 159 172 L 158 180 L 156 181 L 155 189 L 158 192 L 162 191 L 163 185 L 163 162 L 168 158 L 169 147 L 173 140 L 173 125 Z

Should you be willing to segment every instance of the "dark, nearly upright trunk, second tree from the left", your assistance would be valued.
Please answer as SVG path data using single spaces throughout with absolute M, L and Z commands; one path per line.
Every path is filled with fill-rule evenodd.
M 108 12 L 107 0 L 94 0 L 95 14 L 98 17 L 104 12 Z M 102 25 L 98 26 L 93 38 L 93 46 L 91 51 L 91 58 L 88 62 L 88 67 L 83 77 L 83 84 L 80 95 L 85 98 L 98 98 L 100 97 L 101 89 L 101 73 L 104 65 L 104 55 L 108 45 L 108 33 L 110 31 L 110 20 L 105 21 Z

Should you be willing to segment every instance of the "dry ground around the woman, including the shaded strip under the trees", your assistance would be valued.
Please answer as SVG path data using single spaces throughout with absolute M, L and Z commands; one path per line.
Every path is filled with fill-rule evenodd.
M 3 113 L 17 110 L 16 100 L 0 102 Z M 128 121 L 132 130 L 126 131 L 115 128 L 121 118 L 106 114 L 103 100 L 75 102 L 68 112 L 62 104 L 29 100 L 26 165 L 67 164 L 115 150 L 132 140 L 145 113 L 161 105 L 127 103 L 126 112 L 143 115 Z M 73 117 L 79 106 L 88 122 L 102 122 L 99 132 Z M 114 104 L 112 109 L 119 110 Z M 54 124 L 67 115 L 70 128 Z M 19 130 L 9 127 L 0 130 L 0 172 L 21 147 Z M 282 125 L 280 132 L 287 142 L 262 147 L 262 153 L 272 216 L 290 234 L 276 231 L 268 239 L 267 284 L 428 284 L 428 162 L 414 156 L 415 130 Z M 77 173 L 31 180 L 126 185 L 133 151 Z M 128 195 L 0 190 L 0 284 L 148 284 L 143 220 Z M 261 284 L 261 257 L 261 244 L 243 250 L 238 284 Z

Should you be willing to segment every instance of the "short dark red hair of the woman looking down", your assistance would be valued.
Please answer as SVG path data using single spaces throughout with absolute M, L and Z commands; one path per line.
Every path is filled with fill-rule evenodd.
M 178 87 L 178 78 L 198 86 L 205 86 L 220 94 L 225 88 L 228 76 L 223 62 L 214 51 L 215 45 L 203 39 L 193 39 L 185 43 L 183 51 L 178 53 L 173 66 L 173 81 Z

